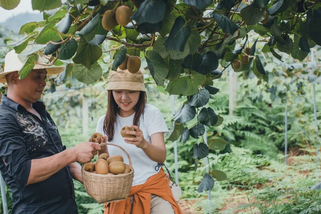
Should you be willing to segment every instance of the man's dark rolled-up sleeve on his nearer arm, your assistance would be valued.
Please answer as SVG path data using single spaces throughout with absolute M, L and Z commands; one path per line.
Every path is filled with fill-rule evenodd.
M 0 157 L 4 161 L 8 175 L 25 187 L 29 178 L 31 158 L 14 118 L 0 115 Z

